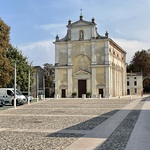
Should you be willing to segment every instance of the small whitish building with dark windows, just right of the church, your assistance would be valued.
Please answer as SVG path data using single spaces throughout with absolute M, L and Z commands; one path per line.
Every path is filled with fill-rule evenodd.
M 143 92 L 143 76 L 141 72 L 127 73 L 127 95 L 141 94 Z

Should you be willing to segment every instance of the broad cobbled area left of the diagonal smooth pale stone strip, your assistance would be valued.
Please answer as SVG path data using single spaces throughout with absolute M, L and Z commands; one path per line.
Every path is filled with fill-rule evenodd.
M 0 150 L 63 150 L 132 101 L 49 99 L 1 110 Z

